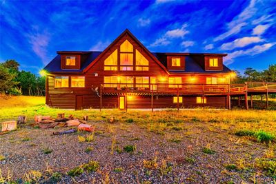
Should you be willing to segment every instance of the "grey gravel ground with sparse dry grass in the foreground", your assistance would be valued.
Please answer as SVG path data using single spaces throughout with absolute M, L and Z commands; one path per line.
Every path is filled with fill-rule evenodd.
M 86 132 L 52 135 L 69 127 L 41 130 L 26 125 L 0 135 L 0 155 L 5 156 L 0 161 L 2 175 L 10 172 L 19 183 L 30 170 L 43 174 L 39 183 L 53 183 L 49 179 L 52 172 L 61 172 L 59 183 L 273 183 L 273 177 L 259 170 L 226 170 L 226 165 L 236 163 L 239 158 L 253 163 L 264 155 L 268 145 L 240 138 L 210 123 L 184 123 L 183 130 L 168 126 L 161 134 L 136 123 L 88 123 L 96 127 L 90 143 L 78 141 L 78 136 L 88 135 Z M 134 145 L 136 150 L 124 152 L 126 145 Z M 205 146 L 215 150 L 215 154 L 202 152 Z M 92 151 L 85 152 L 87 147 L 92 147 Z M 116 152 L 115 147 L 123 152 Z M 52 152 L 43 153 L 46 148 Z M 157 168 L 144 167 L 144 161 L 154 158 Z M 98 161 L 99 170 L 73 178 L 66 174 L 88 161 Z M 162 174 L 162 161 L 166 161 L 166 168 L 170 167 L 171 171 Z M 121 172 L 115 172 L 119 167 Z

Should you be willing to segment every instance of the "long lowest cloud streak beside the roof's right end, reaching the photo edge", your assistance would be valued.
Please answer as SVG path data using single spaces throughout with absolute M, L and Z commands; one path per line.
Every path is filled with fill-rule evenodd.
M 237 50 L 235 52 L 228 54 L 228 56 L 225 57 L 225 64 L 229 65 L 230 63 L 233 63 L 233 59 L 236 57 L 254 56 L 256 54 L 260 54 L 262 52 L 265 52 L 266 50 L 269 50 L 275 44 L 276 42 L 264 43 L 263 45 L 255 45 L 253 48 L 249 48 L 248 50 Z

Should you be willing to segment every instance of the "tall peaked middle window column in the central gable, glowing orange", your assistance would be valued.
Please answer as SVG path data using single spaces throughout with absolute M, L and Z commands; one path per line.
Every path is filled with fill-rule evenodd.
M 120 70 L 133 70 L 133 45 L 128 40 L 120 45 Z

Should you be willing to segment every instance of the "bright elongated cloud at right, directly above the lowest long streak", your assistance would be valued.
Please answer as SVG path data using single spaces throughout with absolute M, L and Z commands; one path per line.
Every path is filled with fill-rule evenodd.
M 251 43 L 259 43 L 262 41 L 264 41 L 264 39 L 260 39 L 259 37 L 243 37 L 241 39 L 235 39 L 232 42 L 224 43 L 220 48 L 221 50 L 233 50 L 235 48 L 243 48 Z

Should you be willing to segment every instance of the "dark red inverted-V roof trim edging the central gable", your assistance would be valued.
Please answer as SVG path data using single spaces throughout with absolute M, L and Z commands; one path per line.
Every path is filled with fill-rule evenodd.
M 108 50 L 110 50 L 110 48 L 112 48 L 112 46 L 115 45 L 126 34 L 128 34 L 131 37 L 131 39 L 133 39 L 135 42 L 137 42 L 137 44 L 145 50 L 146 54 L 148 54 L 148 56 L 150 56 L 153 61 L 155 61 L 165 72 L 167 72 L 169 74 L 166 67 L 128 29 L 126 29 L 124 32 L 122 32 L 119 35 L 119 37 L 117 37 L 117 39 L 115 39 L 115 41 L 113 41 L 105 50 L 103 50 L 103 52 L 101 52 L 101 54 L 99 54 L 99 56 L 92 63 L 90 63 L 83 70 L 83 72 L 87 72 L 92 67 L 92 65 L 95 65 L 95 63 L 97 63 L 99 61 L 99 59 L 101 59 L 101 57 L 103 57 L 106 54 L 106 52 L 108 52 Z

